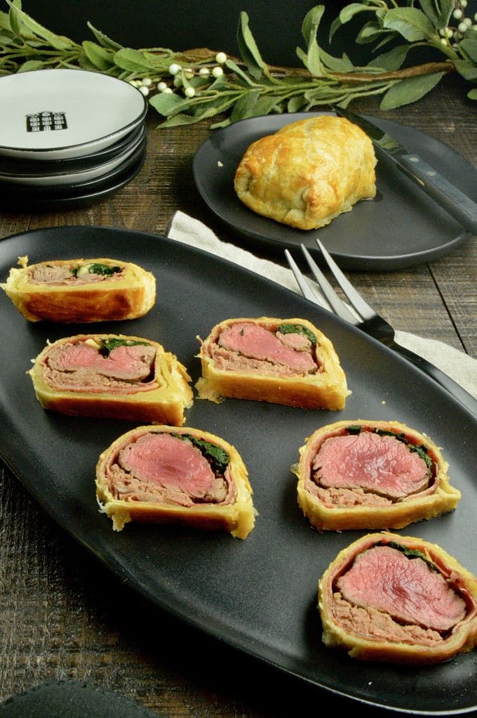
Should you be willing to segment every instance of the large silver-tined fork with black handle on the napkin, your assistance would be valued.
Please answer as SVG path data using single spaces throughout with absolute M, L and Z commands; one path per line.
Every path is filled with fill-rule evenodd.
M 369 304 L 364 301 L 362 296 L 358 292 L 356 292 L 354 286 L 348 279 L 346 279 L 346 276 L 344 276 L 341 269 L 339 269 L 339 266 L 330 256 L 329 252 L 326 251 L 326 248 L 324 248 L 323 244 L 321 243 L 321 241 L 319 241 L 319 239 L 316 239 L 316 244 L 321 251 L 321 255 L 326 261 L 326 264 L 329 266 L 331 274 L 333 274 L 334 278 L 336 279 L 336 282 L 339 284 L 339 286 L 341 286 L 341 289 L 343 290 L 344 294 L 346 294 L 346 297 L 349 299 L 349 304 L 354 309 L 354 312 L 356 312 L 351 312 L 350 309 L 346 307 L 346 304 L 340 299 L 339 295 L 336 294 L 328 279 L 326 279 L 326 276 L 324 276 L 321 269 L 313 260 L 311 254 L 302 244 L 301 251 L 306 258 L 311 273 L 316 279 L 316 282 L 323 294 L 323 297 L 326 299 L 326 302 L 328 302 L 334 314 L 337 314 L 339 317 L 341 317 L 341 319 L 344 319 L 346 322 L 349 322 L 354 327 L 357 327 L 359 330 L 362 330 L 369 336 L 374 337 L 374 339 L 377 339 L 382 344 L 386 345 L 390 349 L 394 350 L 396 353 L 403 356 L 413 365 L 417 366 L 417 368 L 419 368 L 425 374 L 433 378 L 435 382 L 445 388 L 445 390 L 448 391 L 455 399 L 457 399 L 457 401 L 460 401 L 463 406 L 466 406 L 466 409 L 469 409 L 473 412 L 473 414 L 477 416 L 477 400 L 473 398 L 473 396 L 471 396 L 471 394 L 469 394 L 465 389 L 463 389 L 460 384 L 456 383 L 453 379 L 451 379 L 450 376 L 438 369 L 435 365 L 428 362 L 427 359 L 422 358 L 418 354 L 412 352 L 410 349 L 402 347 L 400 344 L 398 344 L 395 341 L 395 330 L 389 324 L 389 322 L 387 322 L 382 317 L 380 317 L 379 314 L 374 312 L 374 309 L 372 309 L 372 307 L 370 307 Z M 306 299 L 309 299 L 315 304 L 323 306 L 322 303 L 317 299 L 316 292 L 311 288 L 311 285 L 308 284 L 306 276 L 304 276 L 301 273 L 300 269 L 298 269 L 298 266 L 293 260 L 293 257 L 291 256 L 291 253 L 288 251 L 288 249 L 285 249 L 285 257 L 287 258 L 288 264 L 293 271 L 293 274 L 295 275 L 295 279 L 298 282 L 298 286 L 301 289 L 303 297 L 306 297 Z

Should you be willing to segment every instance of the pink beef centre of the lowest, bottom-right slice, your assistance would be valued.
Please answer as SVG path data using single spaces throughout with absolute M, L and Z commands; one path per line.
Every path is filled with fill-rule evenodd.
M 336 587 L 353 605 L 433 630 L 449 630 L 466 614 L 466 603 L 442 574 L 391 546 L 363 551 Z

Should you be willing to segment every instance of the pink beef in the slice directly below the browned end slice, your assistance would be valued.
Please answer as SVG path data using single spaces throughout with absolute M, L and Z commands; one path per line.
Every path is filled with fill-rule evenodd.
M 108 356 L 84 342 L 62 344 L 47 356 L 49 368 L 60 372 L 89 369 L 105 377 L 123 381 L 141 381 L 151 374 L 156 349 L 151 345 L 122 345 Z

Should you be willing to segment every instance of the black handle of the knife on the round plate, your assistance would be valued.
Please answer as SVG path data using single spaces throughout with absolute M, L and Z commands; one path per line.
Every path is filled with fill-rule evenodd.
M 456 219 L 472 234 L 477 234 L 477 204 L 464 195 L 442 174 L 424 162 L 417 154 L 394 157 L 397 167 L 415 182 L 423 192 Z

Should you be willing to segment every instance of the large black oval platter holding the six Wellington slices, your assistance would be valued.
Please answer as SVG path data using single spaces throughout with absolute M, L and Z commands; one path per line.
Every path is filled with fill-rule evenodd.
M 3 370 L 0 454 L 57 523 L 154 605 L 280 671 L 316 686 L 317 701 L 413 714 L 477 708 L 476 653 L 433 667 L 353 661 L 321 643 L 316 587 L 336 554 L 364 532 L 313 531 L 296 500 L 290 466 L 314 429 L 339 419 L 397 419 L 443 447 L 457 510 L 405 528 L 443 546 L 477 573 L 477 420 L 433 381 L 359 330 L 277 284 L 208 253 L 159 236 L 95 227 L 36 230 L 0 243 L 0 277 L 17 258 L 110 256 L 135 261 L 157 279 L 156 306 L 132 322 L 52 325 L 26 322 L 1 297 Z M 200 297 L 200 302 L 197 302 Z M 334 342 L 352 394 L 340 412 L 227 399 L 196 399 L 186 425 L 237 447 L 250 472 L 255 528 L 245 541 L 227 534 L 131 523 L 113 533 L 95 499 L 95 463 L 131 424 L 44 411 L 26 375 L 47 340 L 80 332 L 121 332 L 158 340 L 199 376 L 197 335 L 227 317 L 304 317 Z M 54 450 L 52 448 L 54 447 Z M 364 706 L 362 706 L 364 707 Z

